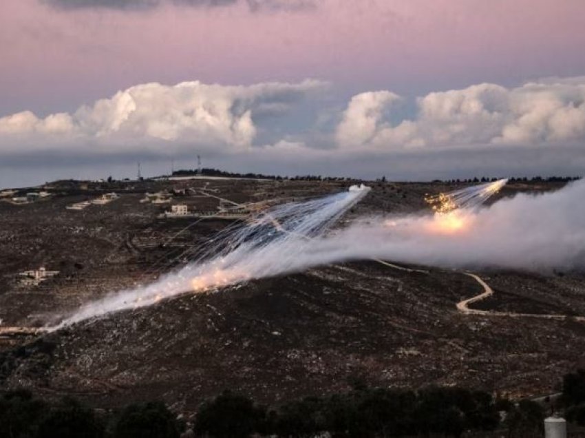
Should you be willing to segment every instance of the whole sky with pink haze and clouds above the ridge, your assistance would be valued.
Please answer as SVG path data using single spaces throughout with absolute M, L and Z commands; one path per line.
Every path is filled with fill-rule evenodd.
M 582 175 L 582 0 L 3 0 L 0 187 Z

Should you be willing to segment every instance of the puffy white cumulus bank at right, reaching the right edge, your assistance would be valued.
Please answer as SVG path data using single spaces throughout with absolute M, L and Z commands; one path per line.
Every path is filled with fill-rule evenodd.
M 390 123 L 398 96 L 354 96 L 337 126 L 342 147 L 425 149 L 542 146 L 585 140 L 585 78 L 547 79 L 508 89 L 482 83 L 416 100 L 416 117 Z

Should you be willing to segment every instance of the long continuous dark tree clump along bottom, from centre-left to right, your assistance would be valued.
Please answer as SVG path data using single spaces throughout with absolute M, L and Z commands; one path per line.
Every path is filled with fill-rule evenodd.
M 358 388 L 349 393 L 290 401 L 268 413 L 251 399 L 224 393 L 201 406 L 195 432 L 210 437 L 248 437 L 252 432 L 313 437 L 326 431 L 334 437 L 431 433 L 460 437 L 465 430 L 493 430 L 498 424 L 496 404 L 491 395 L 480 391 Z

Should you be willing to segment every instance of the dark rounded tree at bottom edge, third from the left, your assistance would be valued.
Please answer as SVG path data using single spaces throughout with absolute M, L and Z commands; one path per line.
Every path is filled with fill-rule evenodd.
M 175 415 L 162 403 L 130 405 L 118 418 L 115 438 L 178 438 L 180 430 Z

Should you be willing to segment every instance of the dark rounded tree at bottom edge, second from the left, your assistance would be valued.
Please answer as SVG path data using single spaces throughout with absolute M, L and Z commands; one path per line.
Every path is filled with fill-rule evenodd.
M 78 401 L 65 398 L 54 406 L 39 424 L 37 438 L 100 438 L 104 425 L 94 411 Z

